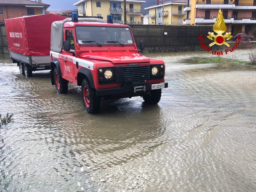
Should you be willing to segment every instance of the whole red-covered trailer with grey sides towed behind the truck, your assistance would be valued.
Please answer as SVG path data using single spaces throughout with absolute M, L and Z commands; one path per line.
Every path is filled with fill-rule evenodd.
M 21 74 L 32 76 L 32 71 L 51 69 L 51 25 L 63 19 L 66 17 L 43 14 L 5 20 L 10 57 Z

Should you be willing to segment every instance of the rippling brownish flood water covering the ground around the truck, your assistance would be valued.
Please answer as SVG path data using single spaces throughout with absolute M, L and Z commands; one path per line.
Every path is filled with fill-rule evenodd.
M 248 60 L 248 50 L 225 57 Z M 256 68 L 163 59 L 158 105 L 106 100 L 97 115 L 80 87 L 58 94 L 50 72 L 0 58 L 0 191 L 256 191 Z

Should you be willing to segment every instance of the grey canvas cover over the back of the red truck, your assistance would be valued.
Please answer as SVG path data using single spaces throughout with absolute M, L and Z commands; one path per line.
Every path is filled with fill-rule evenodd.
M 63 21 L 55 21 L 52 23 L 51 30 L 51 51 L 60 52 L 63 47 L 63 26 L 64 23 L 71 21 L 67 18 Z M 107 21 L 100 18 L 78 18 L 79 22 L 100 22 L 106 23 Z

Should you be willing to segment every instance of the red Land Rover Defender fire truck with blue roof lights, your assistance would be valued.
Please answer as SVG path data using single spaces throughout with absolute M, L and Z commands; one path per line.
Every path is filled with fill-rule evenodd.
M 102 97 L 142 96 L 146 103 L 156 104 L 161 89 L 168 87 L 164 62 L 139 54 L 127 25 L 97 18 L 55 21 L 50 56 L 52 84 L 59 93 L 67 93 L 69 82 L 81 86 L 89 113 L 99 111 Z

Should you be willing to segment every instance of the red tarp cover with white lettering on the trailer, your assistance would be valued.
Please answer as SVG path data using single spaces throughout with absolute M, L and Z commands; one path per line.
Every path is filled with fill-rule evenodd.
M 49 55 L 52 22 L 66 18 L 49 13 L 5 19 L 9 51 L 22 55 Z

